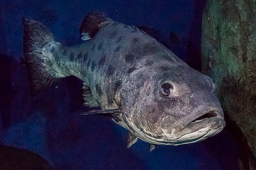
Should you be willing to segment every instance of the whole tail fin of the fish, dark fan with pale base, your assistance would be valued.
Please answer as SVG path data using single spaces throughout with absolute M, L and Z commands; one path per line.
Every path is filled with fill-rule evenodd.
M 23 53 L 29 72 L 32 95 L 49 88 L 60 77 L 66 77 L 58 69 L 53 51 L 59 48 L 53 34 L 42 23 L 23 18 Z

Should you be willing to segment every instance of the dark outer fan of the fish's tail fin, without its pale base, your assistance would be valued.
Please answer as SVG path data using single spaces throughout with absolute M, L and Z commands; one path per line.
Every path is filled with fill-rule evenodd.
M 43 51 L 44 46 L 54 41 L 53 34 L 42 23 L 23 19 L 23 53 L 25 63 L 29 72 L 31 94 L 36 95 L 49 88 L 58 78 L 52 77 L 44 67 Z M 23 62 L 24 63 L 24 62 Z

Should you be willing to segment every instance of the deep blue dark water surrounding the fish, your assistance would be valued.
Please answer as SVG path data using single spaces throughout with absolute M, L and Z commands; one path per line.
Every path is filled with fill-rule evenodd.
M 201 16 L 206 0 L 1 0 L 0 143 L 30 150 L 56 170 L 238 170 L 239 139 L 232 127 L 203 142 L 180 146 L 138 141 L 126 148 L 126 130 L 99 115 L 73 116 L 82 82 L 67 77 L 30 96 L 21 17 L 44 23 L 59 42 L 82 42 L 79 27 L 90 11 L 141 26 L 192 68 L 201 70 Z M 1 153 L 0 153 L 1 154 Z M 1 154 L 1 160 L 5 155 Z M 10 160 L 11 161 L 11 160 Z M 26 160 L 26 161 L 33 161 Z M 1 169 L 1 168 L 0 168 Z

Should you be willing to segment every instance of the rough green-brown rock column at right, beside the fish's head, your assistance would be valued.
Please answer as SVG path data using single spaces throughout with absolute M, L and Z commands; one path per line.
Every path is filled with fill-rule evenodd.
M 256 0 L 209 0 L 202 23 L 202 72 L 216 83 L 225 116 L 256 157 Z M 253 161 L 254 160 L 254 161 Z

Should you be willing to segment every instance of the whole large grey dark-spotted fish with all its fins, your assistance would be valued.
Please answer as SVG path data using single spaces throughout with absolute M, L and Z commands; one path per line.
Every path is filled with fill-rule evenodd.
M 128 130 L 127 147 L 200 142 L 225 127 L 215 83 L 135 26 L 90 12 L 79 29 L 83 42 L 65 46 L 42 23 L 23 18 L 23 52 L 32 95 L 63 77 L 83 81 L 79 115 L 111 117 Z

